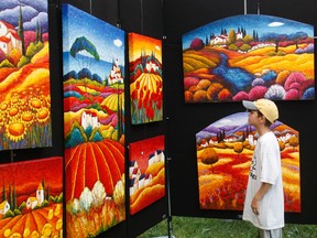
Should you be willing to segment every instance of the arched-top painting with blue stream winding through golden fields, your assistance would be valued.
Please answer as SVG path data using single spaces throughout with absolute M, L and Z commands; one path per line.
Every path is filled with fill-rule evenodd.
M 244 14 L 182 41 L 185 102 L 315 99 L 313 25 Z

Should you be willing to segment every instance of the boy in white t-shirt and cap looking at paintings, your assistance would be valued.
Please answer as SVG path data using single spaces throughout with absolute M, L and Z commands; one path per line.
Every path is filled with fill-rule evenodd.
M 284 227 L 284 193 L 281 153 L 270 126 L 278 118 L 276 105 L 269 99 L 242 101 L 250 111 L 248 122 L 259 133 L 243 208 L 243 220 L 259 228 L 260 238 L 281 238 Z

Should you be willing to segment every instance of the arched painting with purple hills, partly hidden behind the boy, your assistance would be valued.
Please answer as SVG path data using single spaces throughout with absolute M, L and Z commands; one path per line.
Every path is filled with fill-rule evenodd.
M 271 130 L 280 144 L 285 212 L 299 213 L 299 133 L 281 121 Z M 256 140 L 255 128 L 248 125 L 248 112 L 225 117 L 196 134 L 201 209 L 243 209 Z

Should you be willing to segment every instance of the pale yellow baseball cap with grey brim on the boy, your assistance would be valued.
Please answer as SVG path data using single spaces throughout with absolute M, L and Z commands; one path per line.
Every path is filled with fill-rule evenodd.
M 278 118 L 278 109 L 274 101 L 261 98 L 255 101 L 243 100 L 243 106 L 249 110 L 259 110 L 271 122 L 274 123 Z

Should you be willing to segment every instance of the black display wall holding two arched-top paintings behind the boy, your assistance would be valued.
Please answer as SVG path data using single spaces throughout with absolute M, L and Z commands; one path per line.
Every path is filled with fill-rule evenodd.
M 245 113 L 241 100 L 253 100 L 256 99 L 258 94 L 261 94 L 261 97 L 275 100 L 280 109 L 278 121 L 284 125 L 285 129 L 288 128 L 284 131 L 278 126 L 278 131 L 275 131 L 276 137 L 286 131 L 293 131 L 289 136 L 297 134 L 298 138 L 297 136 L 292 138 L 296 138 L 296 141 L 298 139 L 298 145 L 300 142 L 300 149 L 296 145 L 294 153 L 289 140 L 285 143 L 285 148 L 280 148 L 286 195 L 285 220 L 286 223 L 316 224 L 317 217 L 308 205 L 314 204 L 313 201 L 317 197 L 317 194 L 309 188 L 310 184 L 316 181 L 315 156 L 313 155 L 313 148 L 315 147 L 313 138 L 316 133 L 314 122 L 316 120 L 315 93 L 309 99 L 286 97 L 291 94 L 288 91 L 291 88 L 294 93 L 293 96 L 295 94 L 303 95 L 299 93 L 304 86 L 300 86 L 302 83 L 310 84 L 308 87 L 311 89 L 307 89 L 311 93 L 315 91 L 314 29 L 316 29 L 316 20 L 313 15 L 316 14 L 316 11 L 303 6 L 309 4 L 309 1 L 302 2 L 298 8 L 293 6 L 294 2 L 284 0 L 247 1 L 247 6 L 239 1 L 222 1 L 217 2 L 217 4 L 209 4 L 205 0 L 195 2 L 195 4 L 177 2 L 182 4 L 182 11 L 178 13 L 173 11 L 176 2 L 165 2 L 165 21 L 168 22 L 165 32 L 167 40 L 164 44 L 166 58 L 164 72 L 167 75 L 165 93 L 167 99 L 173 98 L 173 100 L 168 100 L 168 137 L 166 137 L 166 144 L 170 148 L 167 153 L 172 159 L 170 172 L 173 215 L 241 218 L 242 204 L 240 203 L 241 197 L 244 196 L 243 187 L 249 166 L 248 154 L 252 154 L 252 149 L 247 145 L 249 139 L 247 137 L 245 139 L 241 138 L 243 129 L 239 129 L 239 133 L 238 127 L 237 131 L 233 130 L 233 127 L 239 121 L 236 115 Z M 278 9 L 283 9 L 283 13 Z M 248 14 L 243 14 L 245 11 Z M 195 14 L 195 18 L 188 18 L 194 12 L 199 12 L 199 14 Z M 252 28 L 253 18 L 259 21 Z M 262 28 L 262 23 L 266 23 L 262 21 L 262 18 L 272 18 L 271 23 L 273 24 L 267 22 L 265 24 L 266 30 Z M 242 19 L 249 20 L 244 22 Z M 288 25 L 287 21 L 298 25 L 296 28 L 289 25 L 287 31 L 283 30 L 283 26 Z M 263 43 L 266 41 L 263 37 L 265 32 L 273 33 L 274 28 L 280 28 L 280 36 L 276 39 L 278 42 L 274 42 L 274 47 L 267 45 L 255 50 L 252 41 L 245 42 L 248 35 L 256 39 L 256 33 L 259 33 L 258 42 Z M 247 34 L 243 36 L 244 31 Z M 292 31 L 294 34 L 291 33 Z M 238 40 L 240 37 L 239 32 L 242 33 L 243 39 Z M 303 42 L 304 44 L 299 44 L 302 47 L 298 45 L 298 48 L 304 50 L 310 45 L 308 47 L 311 47 L 311 51 L 303 54 L 299 53 L 302 50 L 296 51 L 295 39 L 293 41 L 289 39 L 296 32 L 306 32 L 307 36 L 310 35 L 304 36 L 306 40 L 310 39 L 308 40 L 310 42 Z M 236 41 L 231 41 L 229 44 L 230 35 L 232 39 L 236 36 Z M 300 39 L 304 40 L 304 37 Z M 226 43 L 223 43 L 225 41 Z M 288 45 L 285 45 L 286 42 Z M 294 43 L 292 43 L 293 46 L 291 46 L 291 42 Z M 243 50 L 243 44 L 245 47 L 250 45 L 251 48 Z M 276 46 L 277 54 L 274 53 Z M 285 51 L 287 48 L 294 48 L 294 51 Z M 267 52 L 264 53 L 263 51 Z M 269 51 L 274 54 L 270 54 Z M 260 54 L 260 52 L 262 53 Z M 221 61 L 220 55 L 228 56 L 226 62 L 223 58 Z M 292 60 L 286 60 L 289 56 Z M 307 57 L 307 60 L 298 62 L 297 60 L 302 57 Z M 182 66 L 176 66 L 174 62 L 182 62 Z M 222 67 L 222 63 L 226 67 Z M 276 75 L 269 79 L 266 73 L 271 76 Z M 283 78 L 280 73 L 285 74 L 283 84 L 280 82 Z M 247 84 L 248 86 L 242 89 L 247 75 L 252 76 Z M 288 76 L 291 76 L 289 80 L 293 82 L 291 88 L 288 83 L 285 84 Z M 171 83 L 172 80 L 173 83 Z M 263 84 L 258 85 L 259 82 Z M 298 87 L 293 87 L 295 82 L 297 82 Z M 242 87 L 241 90 L 237 90 L 237 87 L 240 86 Z M 179 93 L 179 88 L 184 90 Z M 276 97 L 271 97 L 272 95 L 269 94 L 273 91 L 271 89 L 274 89 Z M 280 95 L 280 93 L 282 94 Z M 239 95 L 244 96 L 240 97 Z M 177 113 L 174 113 L 176 109 Z M 244 134 L 247 131 L 244 130 Z M 249 130 L 249 136 L 250 131 L 252 129 Z M 280 143 L 282 144 L 282 142 Z M 195 144 L 195 150 L 193 150 L 193 144 Z M 196 160 L 193 161 L 193 158 Z M 176 167 L 181 165 L 182 170 L 177 170 Z M 247 171 L 243 172 L 244 166 Z M 197 192 L 188 193 L 188 187 L 197 187 Z M 186 209 L 181 204 L 184 197 L 187 201 Z M 291 203 L 288 203 L 289 201 Z M 315 205 L 311 206 L 314 206 L 313 210 L 317 208 Z

